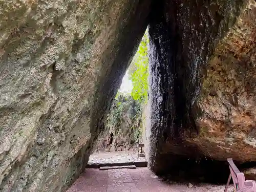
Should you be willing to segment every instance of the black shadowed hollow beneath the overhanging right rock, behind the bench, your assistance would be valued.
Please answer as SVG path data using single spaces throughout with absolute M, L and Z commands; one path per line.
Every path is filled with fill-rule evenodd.
M 164 158 L 164 156 L 162 157 Z M 226 184 L 230 170 L 228 162 L 225 160 L 216 160 L 204 155 L 197 158 L 189 158 L 183 155 L 170 155 L 166 157 L 166 166 L 164 171 L 156 172 L 163 178 L 168 178 L 176 182 L 193 182 L 193 183 L 211 183 Z M 245 178 L 254 180 L 253 172 L 256 167 L 255 162 L 241 163 L 234 161 L 240 172 L 244 172 Z M 231 182 L 232 183 L 232 180 Z

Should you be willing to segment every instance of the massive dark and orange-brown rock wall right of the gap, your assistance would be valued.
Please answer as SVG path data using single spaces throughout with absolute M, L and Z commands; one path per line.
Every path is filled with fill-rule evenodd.
M 255 6 L 252 0 L 166 0 L 154 6 L 158 14 L 149 34 L 155 172 L 181 167 L 188 158 L 256 161 Z

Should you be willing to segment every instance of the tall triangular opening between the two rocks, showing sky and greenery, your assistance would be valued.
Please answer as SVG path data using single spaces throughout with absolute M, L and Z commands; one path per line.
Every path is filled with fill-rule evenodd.
M 106 116 L 104 129 L 94 151 L 137 151 L 143 142 L 142 119 L 148 97 L 148 34 L 145 31 L 138 49 L 122 77 L 120 87 Z M 105 140 L 108 138 L 108 145 Z

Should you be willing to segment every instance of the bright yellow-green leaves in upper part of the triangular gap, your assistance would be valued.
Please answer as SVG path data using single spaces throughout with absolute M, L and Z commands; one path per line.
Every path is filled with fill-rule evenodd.
M 148 91 L 148 55 L 147 55 L 148 36 L 144 34 L 140 46 L 129 67 L 129 78 L 133 83 L 132 97 L 141 103 L 147 100 Z

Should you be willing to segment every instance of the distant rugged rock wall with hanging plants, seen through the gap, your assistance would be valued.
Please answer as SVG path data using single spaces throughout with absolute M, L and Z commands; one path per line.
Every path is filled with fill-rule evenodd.
M 112 102 L 94 151 L 136 151 L 141 133 L 141 104 L 131 95 L 119 94 Z

